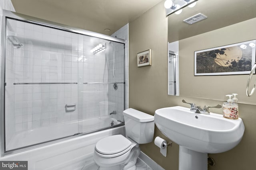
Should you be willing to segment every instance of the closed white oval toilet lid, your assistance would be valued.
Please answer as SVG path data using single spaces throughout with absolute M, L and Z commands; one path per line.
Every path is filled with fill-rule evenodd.
M 116 154 L 131 146 L 131 141 L 123 135 L 113 135 L 98 141 L 95 150 L 101 154 Z

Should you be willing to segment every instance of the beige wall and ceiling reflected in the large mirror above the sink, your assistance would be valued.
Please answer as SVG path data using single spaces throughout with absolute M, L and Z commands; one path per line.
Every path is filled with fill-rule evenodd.
M 199 13 L 207 18 L 193 24 L 183 22 Z M 168 42 L 178 43 L 180 96 L 224 101 L 226 94 L 237 93 L 239 103 L 255 105 L 256 94 L 246 96 L 249 74 L 194 76 L 195 51 L 254 40 L 255 25 L 255 0 L 198 0 L 194 8 L 168 16 Z M 252 57 L 255 61 L 255 52 Z M 252 84 L 255 79 L 256 75 Z

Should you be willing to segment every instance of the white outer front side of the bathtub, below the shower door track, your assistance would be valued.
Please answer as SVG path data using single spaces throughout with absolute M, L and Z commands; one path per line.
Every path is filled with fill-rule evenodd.
M 81 170 L 84 166 L 94 164 L 96 143 L 104 137 L 117 134 L 125 135 L 124 125 L 10 154 L 1 157 L 0 161 L 28 161 L 28 170 Z

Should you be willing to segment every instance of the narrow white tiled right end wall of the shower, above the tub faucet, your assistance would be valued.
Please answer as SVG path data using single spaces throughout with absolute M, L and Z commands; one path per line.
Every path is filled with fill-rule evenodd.
M 116 31 L 115 33 L 113 33 L 111 36 L 112 37 L 117 37 L 117 38 L 121 38 L 124 39 L 126 44 L 125 44 L 125 48 L 121 45 L 114 45 L 114 51 L 115 51 L 115 59 L 113 57 L 113 55 L 110 55 L 110 61 L 109 61 L 109 72 L 108 72 L 108 76 L 109 76 L 109 81 L 123 81 L 125 80 L 125 86 L 118 84 L 118 86 L 120 86 L 122 88 L 122 90 L 116 92 L 112 85 L 109 86 L 109 96 L 110 96 L 110 102 L 116 103 L 118 104 L 118 110 L 117 110 L 117 115 L 116 118 L 119 120 L 122 120 L 122 111 L 123 111 L 123 106 L 124 106 L 124 100 L 123 95 L 124 95 L 124 90 L 125 90 L 125 109 L 127 109 L 129 107 L 129 72 L 128 72 L 128 68 L 129 68 L 129 64 L 128 64 L 128 28 L 129 25 L 128 23 L 126 25 L 124 25 L 122 28 L 120 28 L 118 31 Z M 115 43 L 114 43 L 115 44 Z M 124 48 L 124 49 L 123 49 Z M 125 57 L 123 58 L 123 54 L 125 54 Z M 115 63 L 115 69 L 114 69 L 114 73 L 115 73 L 115 77 L 113 77 L 113 64 Z M 124 65 L 122 64 L 124 63 Z M 122 77 L 123 75 L 124 78 Z M 124 89 L 125 88 L 125 89 Z M 109 112 L 111 112 L 113 109 L 110 107 Z

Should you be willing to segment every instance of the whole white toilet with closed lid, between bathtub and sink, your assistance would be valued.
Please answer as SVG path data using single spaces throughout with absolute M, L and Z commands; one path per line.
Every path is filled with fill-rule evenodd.
M 113 135 L 96 143 L 94 161 L 99 170 L 136 170 L 139 144 L 154 138 L 154 116 L 129 108 L 123 111 L 126 137 Z

